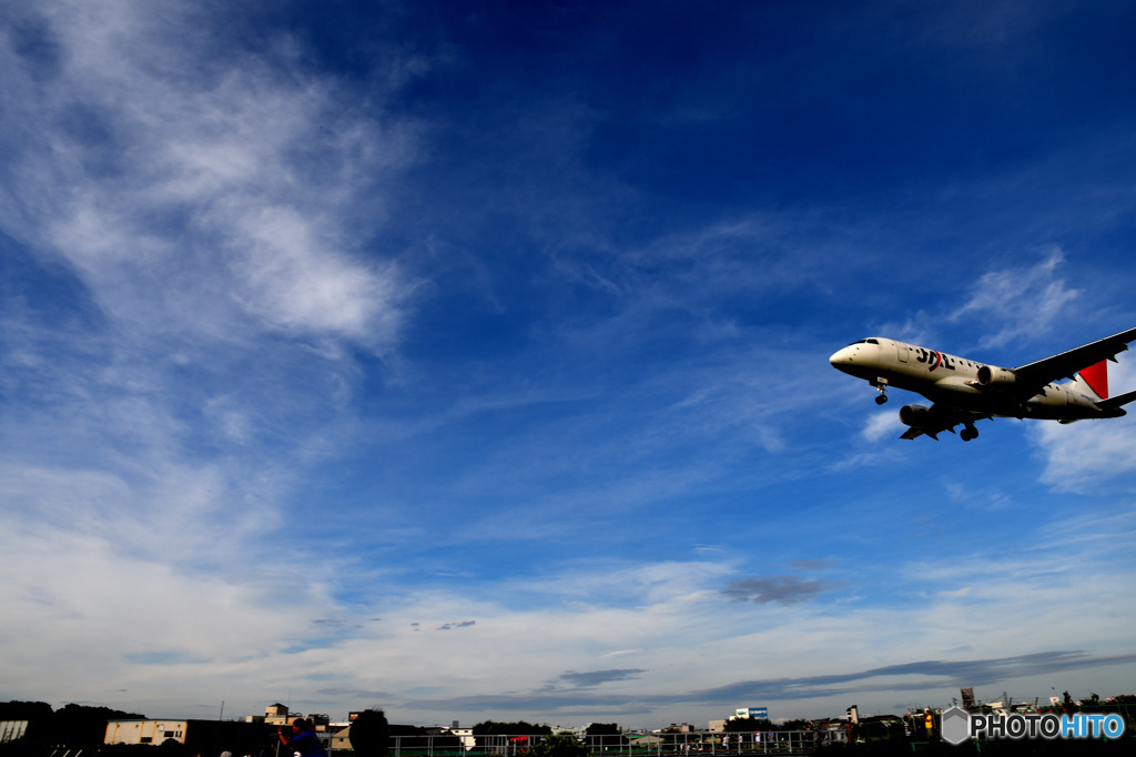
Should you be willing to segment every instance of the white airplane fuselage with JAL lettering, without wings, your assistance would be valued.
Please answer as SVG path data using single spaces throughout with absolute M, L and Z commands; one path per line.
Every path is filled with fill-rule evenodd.
M 1010 418 L 1074 421 L 1108 417 L 1097 399 L 1072 384 L 1046 384 L 1025 400 L 1013 388 L 1014 374 L 967 358 L 928 350 L 884 336 L 849 344 L 833 355 L 833 367 L 875 386 L 896 386 L 964 410 Z M 983 372 L 984 382 L 979 381 Z

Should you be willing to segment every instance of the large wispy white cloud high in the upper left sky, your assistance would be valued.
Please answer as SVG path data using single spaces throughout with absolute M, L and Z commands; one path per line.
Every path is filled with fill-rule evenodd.
M 60 49 L 50 89 L 26 97 L 42 72 L 2 51 L 19 135 L 9 233 L 74 264 L 132 328 L 232 333 L 244 310 L 290 334 L 393 343 L 406 284 L 357 235 L 383 218 L 409 123 L 345 109 L 287 45 L 270 60 L 224 50 L 195 3 L 37 10 Z

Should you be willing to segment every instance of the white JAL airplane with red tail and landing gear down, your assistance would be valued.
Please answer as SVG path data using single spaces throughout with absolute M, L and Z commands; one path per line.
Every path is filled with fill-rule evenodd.
M 926 434 L 938 441 L 944 431 L 970 441 L 983 418 L 1039 418 L 1072 423 L 1088 418 L 1119 418 L 1122 406 L 1136 400 L 1136 390 L 1109 397 L 1108 360 L 1136 341 L 1136 328 L 1099 339 L 1017 368 L 954 357 L 914 344 L 869 336 L 837 350 L 828 361 L 837 371 L 866 380 L 887 401 L 888 386 L 922 394 L 932 401 L 905 405 L 900 421 L 909 426 L 900 439 Z M 1059 378 L 1070 382 L 1053 383 Z

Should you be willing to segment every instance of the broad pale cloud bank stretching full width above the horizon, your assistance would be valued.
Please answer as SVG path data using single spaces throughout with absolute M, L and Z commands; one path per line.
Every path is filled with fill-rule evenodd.
M 114 490 L 110 484 L 110 496 Z M 1126 643 L 1134 619 L 1122 599 L 1125 574 L 1102 572 L 1101 544 L 1068 542 L 1059 538 L 1060 527 L 1034 551 L 1005 555 L 1000 546 L 993 556 L 934 555 L 901 566 L 888 580 L 902 596 L 899 604 L 844 602 L 849 589 L 837 584 L 791 605 L 730 602 L 721 590 L 743 574 L 725 555 L 718 563 L 588 559 L 460 590 L 400 591 L 391 583 L 371 605 L 353 607 L 331 600 L 324 589 L 342 566 L 326 565 L 312 576 L 309 563 L 290 568 L 287 550 L 277 560 L 236 554 L 220 573 L 186 573 L 132 547 L 147 533 L 156 544 L 176 543 L 183 530 L 140 529 L 120 540 L 110 527 L 5 534 L 0 593 L 18 612 L 0 629 L 18 660 L 6 668 L 9 685 L 99 701 L 111 688 L 160 687 L 181 692 L 179 712 L 224 691 L 227 712 L 253 713 L 276 691 L 289 692 L 304 712 L 358 706 L 366 697 L 368 706 L 386 706 L 411 722 L 433 722 L 440 713 L 543 718 L 556 712 L 615 716 L 629 708 L 621 722 L 649 724 L 657 718 L 652 713 L 687 700 L 684 710 L 711 717 L 721 705 L 699 701 L 699 690 L 960 660 L 960 640 L 982 649 L 980 657 L 1044 652 L 1056 649 L 1051 640 L 1069 638 L 1078 639 L 1078 649 L 1110 654 Z M 256 567 L 242 571 L 245 561 Z M 31 581 L 22 573 L 27 564 L 43 566 Z M 872 579 L 861 573 L 855 581 Z M 1086 627 L 1084 617 L 1094 624 Z M 1010 632 L 1021 618 L 1046 634 Z M 453 632 L 459 622 L 463 627 Z M 438 631 L 448 624 L 451 632 Z M 12 633 L 25 626 L 44 632 Z M 567 671 L 610 669 L 612 657 L 619 668 L 642 673 L 607 681 L 599 705 L 551 698 L 554 692 L 536 696 Z M 60 662 L 74 672 L 68 680 L 39 680 Z M 924 677 L 930 691 L 957 684 Z M 871 689 L 902 690 L 908 679 L 896 673 L 854 685 L 866 707 L 885 707 L 902 699 Z M 825 684 L 815 688 L 815 697 L 768 704 L 794 715 L 832 714 Z M 540 705 L 527 705 L 534 707 L 529 713 L 526 701 Z M 150 697 L 139 708 L 159 705 Z

